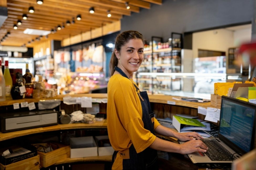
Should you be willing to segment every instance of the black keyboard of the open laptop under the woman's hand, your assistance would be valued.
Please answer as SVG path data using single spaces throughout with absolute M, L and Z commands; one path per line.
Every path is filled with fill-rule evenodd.
M 208 150 L 205 153 L 212 161 L 232 161 L 232 154 L 221 146 L 216 140 L 202 140 Z M 233 160 L 236 157 L 233 156 Z

